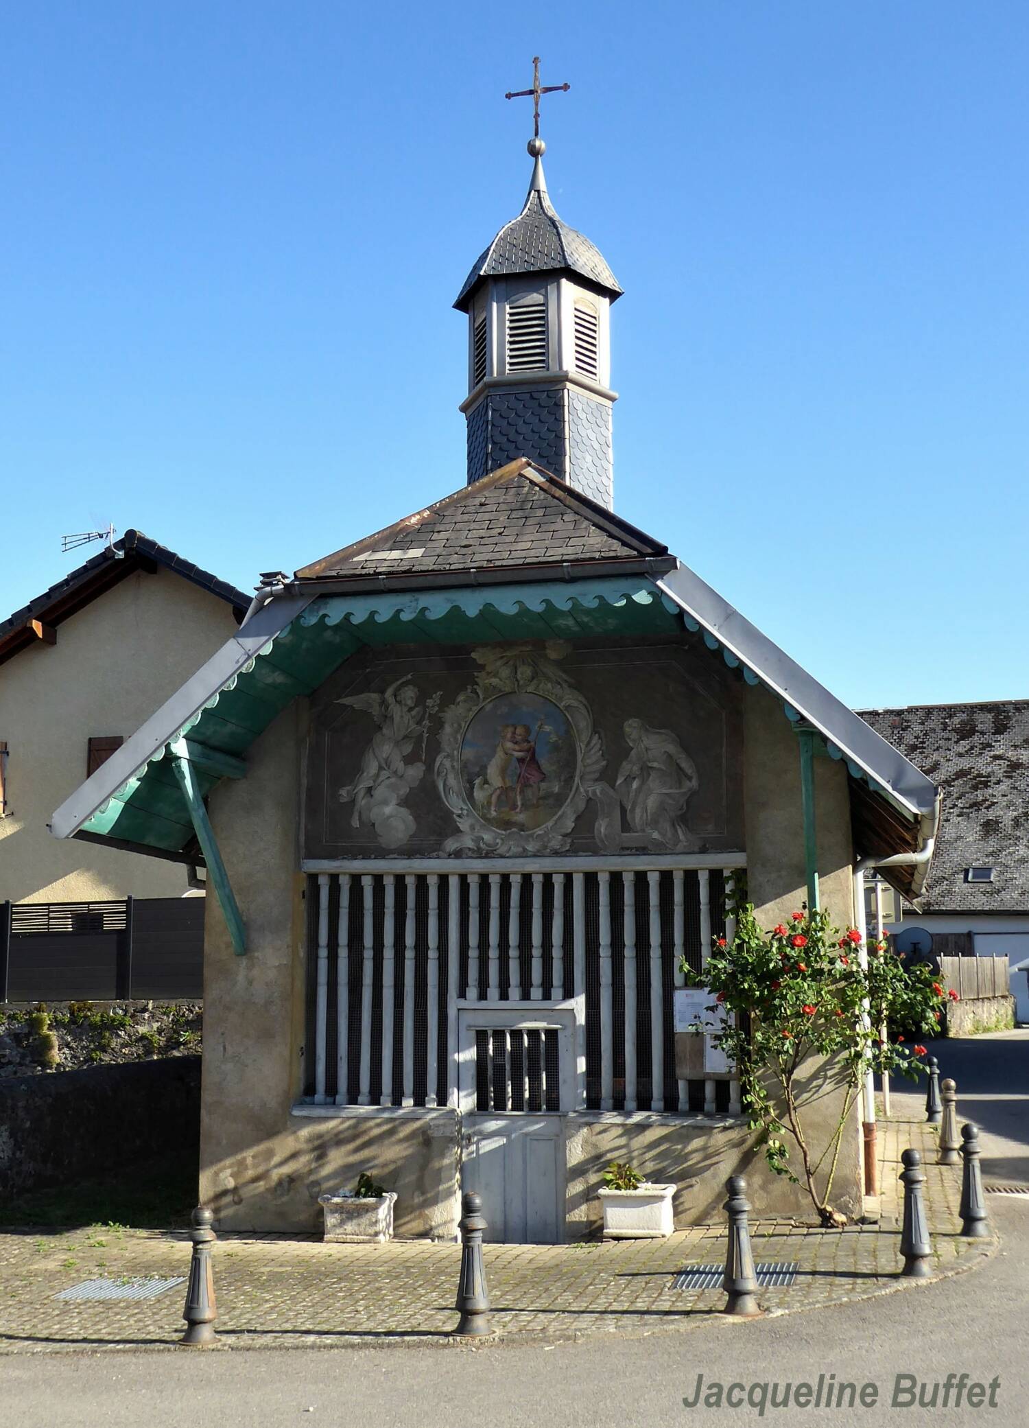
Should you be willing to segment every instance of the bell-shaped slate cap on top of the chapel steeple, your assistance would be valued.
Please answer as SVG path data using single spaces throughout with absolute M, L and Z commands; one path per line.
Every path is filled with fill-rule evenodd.
M 622 288 L 599 250 L 582 233 L 558 218 L 547 193 L 542 164 L 537 160 L 525 207 L 517 218 L 504 224 L 490 247 L 478 256 L 454 307 L 467 308 L 468 297 L 484 277 L 557 268 L 578 273 L 602 287 L 612 300 L 621 296 Z

